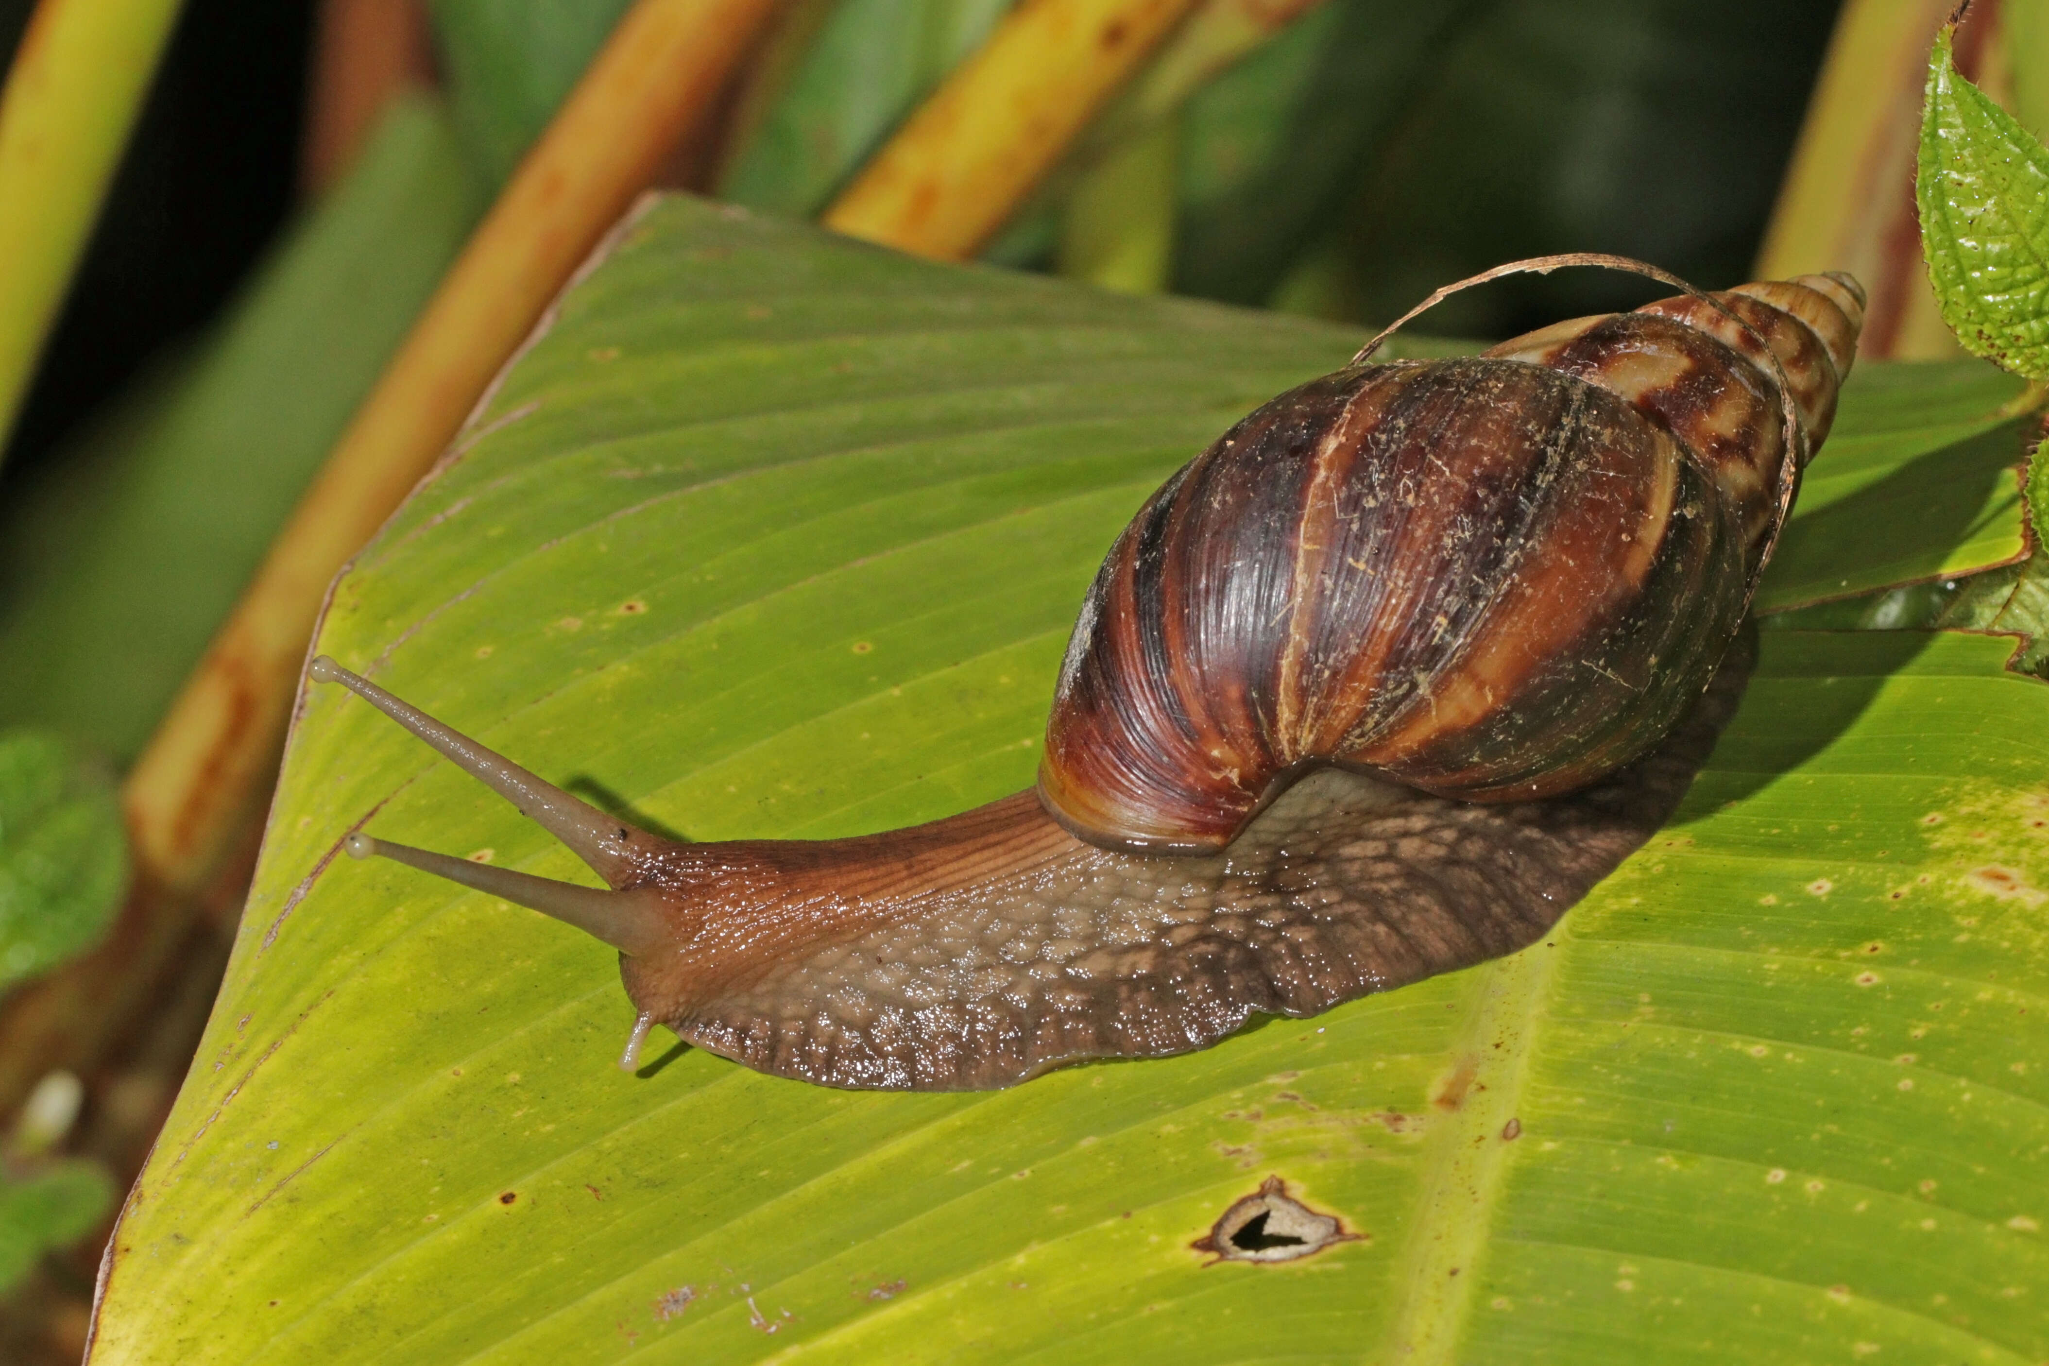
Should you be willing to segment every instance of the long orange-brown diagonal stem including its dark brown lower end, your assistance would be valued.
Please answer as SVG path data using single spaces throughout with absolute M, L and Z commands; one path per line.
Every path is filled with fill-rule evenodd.
M 92 0 L 104 4 L 109 0 Z M 86 1071 L 180 967 L 203 905 L 240 905 L 322 596 L 412 489 L 549 299 L 715 111 L 772 0 L 641 0 L 471 236 L 129 772 L 135 885 L 94 952 L 0 1010 L 0 1110 Z

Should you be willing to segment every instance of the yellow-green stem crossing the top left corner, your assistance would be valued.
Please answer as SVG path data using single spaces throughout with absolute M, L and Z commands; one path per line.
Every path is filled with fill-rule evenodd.
M 0 94 L 0 440 L 150 88 L 178 0 L 41 0 Z

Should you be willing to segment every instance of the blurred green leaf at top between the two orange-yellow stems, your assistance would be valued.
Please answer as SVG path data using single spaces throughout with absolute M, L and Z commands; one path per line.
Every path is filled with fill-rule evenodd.
M 719 197 L 809 217 L 969 55 L 1008 0 L 838 0 Z

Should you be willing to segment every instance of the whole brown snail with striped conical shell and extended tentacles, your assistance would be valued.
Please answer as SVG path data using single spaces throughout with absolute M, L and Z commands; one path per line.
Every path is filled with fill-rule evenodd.
M 1451 289 L 1588 262 L 1619 264 Z M 627 1069 L 664 1024 L 836 1087 L 998 1087 L 1512 952 L 1662 825 L 1731 713 L 1863 322 L 1846 274 L 1703 295 L 1623 264 L 1686 293 L 1479 356 L 1375 365 L 1375 338 L 1168 479 L 1086 594 L 1031 791 L 672 842 L 320 655 L 609 889 L 344 844 L 617 948 Z

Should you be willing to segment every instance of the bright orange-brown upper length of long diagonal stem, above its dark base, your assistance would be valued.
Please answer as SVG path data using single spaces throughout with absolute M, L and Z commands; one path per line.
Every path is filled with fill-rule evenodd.
M 447 449 L 541 311 L 713 111 L 770 0 L 639 0 L 471 236 L 127 782 L 137 860 L 203 879 L 268 776 L 328 580 Z

